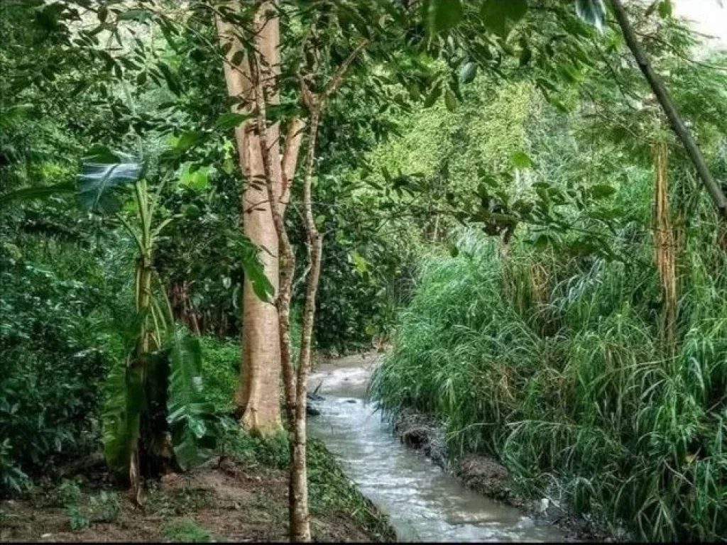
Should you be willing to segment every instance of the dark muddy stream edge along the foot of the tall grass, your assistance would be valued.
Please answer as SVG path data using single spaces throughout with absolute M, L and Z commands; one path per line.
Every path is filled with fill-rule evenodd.
M 571 513 L 545 498 L 519 495 L 507 468 L 497 460 L 477 455 L 462 459 L 449 456 L 444 426 L 433 416 L 403 409 L 393 419 L 393 432 L 402 443 L 422 451 L 467 488 L 523 509 L 534 520 L 555 525 L 569 541 L 625 541 L 625 536 L 614 536 L 605 525 L 590 517 Z

